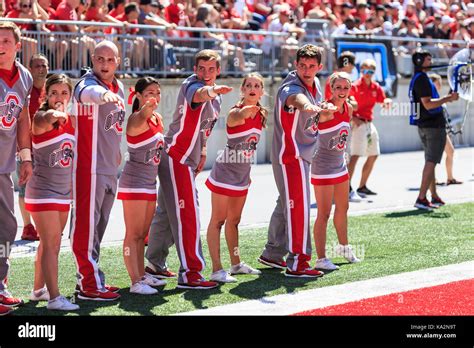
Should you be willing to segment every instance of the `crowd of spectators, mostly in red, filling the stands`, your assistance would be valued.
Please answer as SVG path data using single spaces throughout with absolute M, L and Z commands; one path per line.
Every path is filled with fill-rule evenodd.
M 0 16 L 9 18 L 82 20 L 90 26 L 22 24 L 24 30 L 44 32 L 84 33 L 69 40 L 64 34 L 54 34 L 45 49 L 54 50 L 56 62 L 62 66 L 70 50 L 70 64 L 87 59 L 98 40 L 94 34 L 139 34 L 140 38 L 125 40 L 121 49 L 127 51 L 127 64 L 150 67 L 155 55 L 165 56 L 170 69 L 176 67 L 175 46 L 196 49 L 212 48 L 222 52 L 235 70 L 246 71 L 243 50 L 261 49 L 268 54 L 278 47 L 279 64 L 287 67 L 298 44 L 302 43 L 307 19 L 328 20 L 328 32 L 335 35 L 377 35 L 407 38 L 433 38 L 469 41 L 474 38 L 474 3 L 471 0 L 1 0 Z M 121 24 L 105 28 L 94 22 Z M 164 29 L 137 29 L 129 24 L 159 25 Z M 288 33 L 287 37 L 271 39 L 268 35 L 218 34 L 211 31 L 178 30 L 178 27 L 267 30 Z M 72 34 L 70 34 L 72 35 Z M 156 40 L 149 40 L 156 36 Z M 162 39 L 166 37 L 164 42 Z M 183 45 L 183 40 L 189 41 Z M 197 40 L 200 39 L 200 40 Z M 173 41 L 175 40 L 175 41 Z M 24 40 L 29 56 L 37 52 L 34 39 Z M 242 44 L 245 41 L 246 44 Z M 179 42 L 179 44 L 176 44 Z M 194 46 L 193 46 L 194 45 Z M 403 43 L 407 53 L 416 44 Z M 460 47 L 460 45 L 451 45 Z M 440 52 L 442 48 L 440 46 Z M 85 49 L 82 49 L 85 48 Z M 165 54 L 163 53 L 163 50 Z M 410 51 L 410 52 L 408 52 Z M 142 54 L 151 52 L 151 54 Z M 80 55 L 82 55 L 80 57 Z M 28 59 L 28 57 L 25 57 Z M 56 63 L 56 64 L 55 64 Z M 224 62 L 225 63 L 225 62 Z

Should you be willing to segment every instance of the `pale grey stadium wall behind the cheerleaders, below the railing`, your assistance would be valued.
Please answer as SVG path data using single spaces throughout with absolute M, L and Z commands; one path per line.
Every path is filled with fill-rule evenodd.
M 444 79 L 445 80 L 445 79 Z M 129 87 L 135 84 L 135 80 L 122 80 L 126 88 L 126 97 L 128 98 Z M 176 97 L 179 91 L 179 85 L 182 79 L 162 79 L 161 83 L 161 102 L 159 105 L 159 112 L 163 115 L 165 125 L 168 126 L 173 117 L 173 112 L 176 104 Z M 321 79 L 321 85 L 324 86 L 324 79 Z M 374 110 L 374 124 L 376 125 L 380 136 L 380 148 L 382 153 L 416 151 L 421 149 L 421 143 L 418 137 L 417 127 L 408 124 L 409 100 L 408 100 L 408 85 L 409 79 L 400 79 L 398 84 L 397 97 L 393 100 L 392 112 L 385 112 L 381 110 L 380 106 L 376 106 Z M 223 98 L 222 112 L 219 121 L 216 123 L 214 131 L 209 138 L 208 157 L 206 168 L 212 167 L 217 153 L 222 150 L 226 142 L 225 134 L 225 116 L 229 109 L 239 99 L 239 88 L 241 79 L 222 79 L 218 83 L 227 84 L 234 88 L 234 90 Z M 263 105 L 269 107 L 269 120 L 266 131 L 262 133 L 262 137 L 257 150 L 257 162 L 265 163 L 270 160 L 270 149 L 273 135 L 273 100 L 275 93 L 280 84 L 280 79 L 276 79 L 273 83 L 271 79 L 266 79 L 265 89 L 267 94 L 264 97 Z M 448 92 L 449 87 L 444 81 L 443 93 Z M 466 103 L 458 101 L 448 104 L 448 110 L 454 123 L 460 121 L 464 113 Z M 127 116 L 130 115 L 131 106 L 127 106 Z M 400 115 L 402 114 L 402 115 Z M 464 131 L 462 136 L 457 135 L 455 143 L 463 146 L 474 145 L 474 106 L 470 105 Z M 167 128 L 166 128 L 167 129 Z M 126 153 L 125 137 L 122 141 L 122 153 Z M 122 162 L 123 166 L 123 162 Z

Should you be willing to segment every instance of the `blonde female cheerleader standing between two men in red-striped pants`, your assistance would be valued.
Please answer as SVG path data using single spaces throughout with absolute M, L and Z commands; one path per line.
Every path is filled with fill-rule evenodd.
M 238 226 L 250 186 L 250 167 L 267 117 L 267 111 L 260 105 L 264 94 L 262 76 L 247 75 L 240 90 L 242 99 L 227 118 L 227 146 L 206 181 L 212 191 L 212 215 L 207 228 L 211 280 L 221 283 L 236 282 L 231 276 L 234 274 L 261 273 L 240 260 Z M 220 259 L 220 231 L 224 224 L 232 265 L 230 274 L 222 268 Z

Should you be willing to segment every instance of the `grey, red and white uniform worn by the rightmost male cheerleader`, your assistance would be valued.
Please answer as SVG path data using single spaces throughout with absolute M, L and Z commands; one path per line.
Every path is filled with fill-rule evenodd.
M 296 94 L 304 94 L 312 104 L 317 104 L 322 99 L 319 80 L 315 78 L 308 87 L 294 71 L 278 89 L 271 157 L 280 196 L 262 256 L 282 260 L 289 253 L 287 267 L 301 271 L 309 267 L 311 259 L 309 167 L 318 129 L 314 112 L 286 106 L 287 99 Z

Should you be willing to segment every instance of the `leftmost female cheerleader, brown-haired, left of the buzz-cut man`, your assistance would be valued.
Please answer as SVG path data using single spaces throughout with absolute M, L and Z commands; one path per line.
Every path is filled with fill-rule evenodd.
M 35 286 L 30 299 L 48 300 L 48 309 L 62 311 L 79 309 L 61 296 L 58 289 L 58 254 L 72 201 L 76 143 L 75 118 L 65 112 L 71 93 L 71 80 L 64 74 L 52 75 L 46 81 L 46 101 L 33 118 L 35 166 L 25 192 L 25 208 L 31 213 L 40 236 Z

